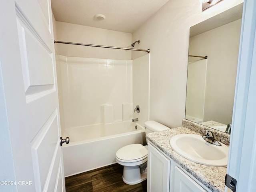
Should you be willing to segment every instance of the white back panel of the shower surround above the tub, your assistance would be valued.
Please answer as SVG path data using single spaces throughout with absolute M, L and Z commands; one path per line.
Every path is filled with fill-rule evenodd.
M 132 60 L 60 56 L 66 128 L 120 122 L 122 104 L 132 103 Z

